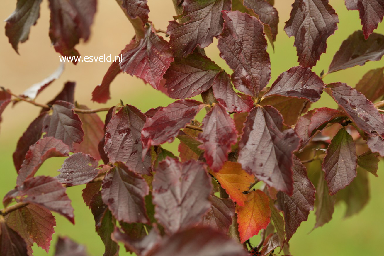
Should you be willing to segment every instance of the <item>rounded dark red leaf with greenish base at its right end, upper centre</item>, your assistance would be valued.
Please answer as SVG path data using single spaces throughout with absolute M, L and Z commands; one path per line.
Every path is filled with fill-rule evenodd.
M 184 99 L 199 95 L 213 84 L 221 68 L 200 53 L 176 60 L 164 75 L 171 98 Z

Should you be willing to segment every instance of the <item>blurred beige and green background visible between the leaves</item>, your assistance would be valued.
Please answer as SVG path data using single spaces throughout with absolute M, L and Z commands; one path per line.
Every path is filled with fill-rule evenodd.
M 317 74 L 322 70 L 327 71 L 334 53 L 339 49 L 341 43 L 355 30 L 361 29 L 358 11 L 348 11 L 343 0 L 330 0 L 330 4 L 339 15 L 340 23 L 338 30 L 328 38 L 326 54 L 321 55 L 320 61 L 313 68 Z M 272 63 L 272 79 L 292 66 L 298 65 L 296 48 L 293 47 L 294 38 L 288 38 L 283 31 L 285 22 L 289 19 L 291 4 L 293 0 L 275 0 L 275 7 L 279 12 L 280 23 L 275 51 L 268 47 Z M 168 21 L 175 15 L 172 0 L 149 0 L 149 20 L 158 29 L 166 30 Z M 16 0 L 6 0 L 0 3 L 0 19 L 5 20 L 15 9 Z M 19 45 L 20 55 L 17 55 L 8 43 L 5 36 L 4 26 L 0 33 L 0 86 L 9 88 L 14 93 L 22 93 L 32 84 L 41 81 L 50 75 L 60 65 L 59 54 L 51 47 L 48 37 L 50 12 L 48 1 L 43 0 L 41 4 L 40 18 L 36 26 L 31 28 L 29 40 Z M 82 56 L 118 55 L 124 46 L 130 42 L 134 35 L 131 24 L 124 16 L 119 6 L 113 0 L 99 0 L 94 24 L 91 27 L 91 38 L 87 43 L 80 43 L 76 48 Z M 384 25 L 379 24 L 375 30 L 384 34 Z M 219 57 L 217 39 L 206 48 L 208 57 L 214 60 L 227 72 L 230 71 L 226 63 Z M 127 74 L 120 74 L 111 85 L 111 100 L 106 104 L 93 103 L 91 92 L 96 85 L 101 83 L 104 73 L 110 63 L 66 63 L 65 71 L 60 79 L 56 80 L 36 101 L 45 103 L 51 100 L 61 90 L 66 81 L 76 81 L 75 99 L 89 108 L 100 108 L 116 105 L 122 100 L 124 103 L 137 106 L 143 112 L 149 108 L 166 106 L 173 100 L 150 85 L 145 85 L 142 80 Z M 356 66 L 348 70 L 332 73 L 324 78 L 324 82 L 331 83 L 342 81 L 348 85 L 355 86 L 362 76 L 371 69 L 384 66 L 384 60 L 368 62 L 364 66 Z M 198 97 L 197 97 L 198 98 Z M 322 99 L 313 104 L 312 108 L 328 106 L 336 108 L 337 105 L 326 94 Z M 25 131 L 28 124 L 38 115 L 40 109 L 28 103 L 19 103 L 15 107 L 8 108 L 3 113 L 3 122 L 0 131 L 0 198 L 9 190 L 13 189 L 17 173 L 13 166 L 12 153 L 18 138 Z M 204 111 L 199 115 L 202 118 Z M 105 113 L 100 113 L 104 120 Z M 178 140 L 166 148 L 177 153 Z M 41 166 L 38 175 L 56 176 L 57 170 L 63 163 L 64 158 L 51 158 Z M 314 212 L 311 212 L 308 221 L 303 222 L 297 233 L 290 241 L 291 254 L 294 256 L 324 256 L 324 255 L 379 255 L 381 243 L 384 238 L 384 166 L 380 163 L 376 178 L 369 174 L 371 185 L 371 199 L 360 214 L 350 218 L 343 218 L 345 205 L 338 204 L 330 223 L 311 231 L 314 226 Z M 83 186 L 68 189 L 68 195 L 72 199 L 75 225 L 72 225 L 64 217 L 55 214 L 57 227 L 53 235 L 51 250 L 48 255 L 54 254 L 54 244 L 57 237 L 69 236 L 79 243 L 88 247 L 89 254 L 99 256 L 103 254 L 103 243 L 94 231 L 94 220 L 91 211 L 83 203 L 81 190 Z M 258 238 L 254 239 L 255 243 Z M 34 246 L 35 256 L 47 255 L 45 251 Z M 124 248 L 120 249 L 120 255 L 128 255 Z

